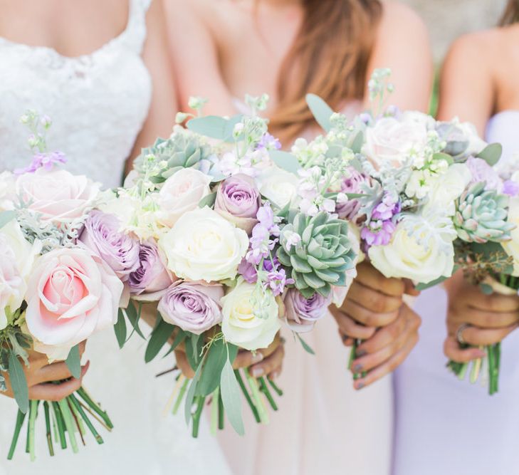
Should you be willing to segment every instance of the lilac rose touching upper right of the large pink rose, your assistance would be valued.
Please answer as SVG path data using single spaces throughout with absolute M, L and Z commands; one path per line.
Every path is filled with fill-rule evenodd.
M 120 221 L 117 216 L 93 211 L 88 216 L 79 239 L 125 282 L 130 273 L 139 268 L 140 244 L 119 229 Z

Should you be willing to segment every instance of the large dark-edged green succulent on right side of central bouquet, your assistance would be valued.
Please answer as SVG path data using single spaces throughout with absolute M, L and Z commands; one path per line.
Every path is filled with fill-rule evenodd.
M 294 233 L 300 241 L 290 245 Z M 315 291 L 327 297 L 332 285 L 345 286 L 346 271 L 355 266 L 357 256 L 348 237 L 347 222 L 326 212 L 315 216 L 295 214 L 283 227 L 280 243 L 278 260 L 305 298 Z

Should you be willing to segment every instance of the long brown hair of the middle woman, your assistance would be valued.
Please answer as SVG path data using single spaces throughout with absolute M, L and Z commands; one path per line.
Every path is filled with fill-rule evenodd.
M 304 16 L 278 75 L 271 130 L 285 145 L 313 125 L 305 95 L 332 108 L 362 99 L 367 65 L 382 15 L 379 0 L 301 0 Z

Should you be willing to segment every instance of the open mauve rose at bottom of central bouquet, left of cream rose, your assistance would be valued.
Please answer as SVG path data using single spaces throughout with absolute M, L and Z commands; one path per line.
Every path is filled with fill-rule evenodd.
M 221 322 L 223 296 L 219 285 L 177 281 L 160 299 L 158 310 L 167 323 L 200 335 Z

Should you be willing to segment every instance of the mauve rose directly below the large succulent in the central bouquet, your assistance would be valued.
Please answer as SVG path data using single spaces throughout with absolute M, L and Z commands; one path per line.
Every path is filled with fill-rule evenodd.
M 330 303 L 332 303 L 331 293 L 329 297 L 323 297 L 315 292 L 310 298 L 305 298 L 296 288 L 289 288 L 285 296 L 288 326 L 298 333 L 312 330 L 315 322 L 323 318 Z

